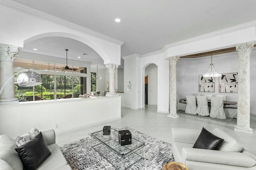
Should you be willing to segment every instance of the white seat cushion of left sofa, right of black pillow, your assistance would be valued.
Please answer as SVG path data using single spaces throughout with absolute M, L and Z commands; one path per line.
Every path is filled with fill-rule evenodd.
M 44 162 L 40 164 L 36 170 L 56 170 L 67 164 L 66 159 L 56 143 L 48 145 L 48 148 L 52 154 L 46 158 L 46 160 L 44 160 Z

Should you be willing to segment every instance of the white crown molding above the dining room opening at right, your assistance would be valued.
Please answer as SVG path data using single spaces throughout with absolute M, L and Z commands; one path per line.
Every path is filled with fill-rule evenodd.
M 256 27 L 256 20 L 246 22 L 246 23 L 242 23 L 242 24 L 239 24 L 239 25 L 235 25 L 235 26 L 232 26 L 232 27 L 220 29 L 218 31 L 214 31 L 214 32 L 211 32 L 211 33 L 199 35 L 197 37 L 193 37 L 193 38 L 190 38 L 190 39 L 185 39 L 185 40 L 178 41 L 178 42 L 175 42 L 175 43 L 167 44 L 162 48 L 162 51 L 165 51 L 166 49 L 171 48 L 171 47 L 176 47 L 176 46 L 179 46 L 179 45 L 184 45 L 184 44 L 200 41 L 200 40 L 203 40 L 203 39 L 212 38 L 212 37 L 215 37 L 215 36 L 218 36 L 218 35 L 223 35 L 223 34 L 226 34 L 226 33 L 232 33 L 232 32 L 235 32 L 235 31 L 240 31 L 242 29 L 248 29 L 248 28 L 251 28 L 251 27 Z

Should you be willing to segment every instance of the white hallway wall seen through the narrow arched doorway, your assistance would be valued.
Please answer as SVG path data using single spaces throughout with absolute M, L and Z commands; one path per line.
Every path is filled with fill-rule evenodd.
M 156 64 L 149 64 L 145 68 L 145 76 L 148 75 L 148 105 L 157 105 L 157 69 Z

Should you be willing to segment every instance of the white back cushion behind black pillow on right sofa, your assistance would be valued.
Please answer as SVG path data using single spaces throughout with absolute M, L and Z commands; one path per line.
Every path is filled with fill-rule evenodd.
M 212 133 L 222 139 L 224 139 L 220 150 L 227 151 L 227 152 L 241 152 L 243 150 L 243 146 L 236 141 L 232 136 L 228 135 L 224 131 L 220 130 L 219 128 L 213 129 Z

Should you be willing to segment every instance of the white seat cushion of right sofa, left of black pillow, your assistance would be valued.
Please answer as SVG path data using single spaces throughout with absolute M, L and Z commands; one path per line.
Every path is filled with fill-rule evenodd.
M 193 144 L 183 143 L 183 142 L 174 142 L 172 143 L 172 154 L 176 162 L 182 162 L 181 153 L 182 148 L 192 148 Z

